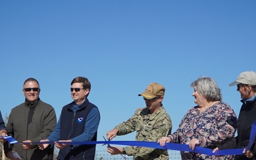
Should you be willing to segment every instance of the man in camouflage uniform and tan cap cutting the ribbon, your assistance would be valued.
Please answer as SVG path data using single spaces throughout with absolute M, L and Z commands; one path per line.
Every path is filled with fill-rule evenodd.
M 139 94 L 144 98 L 146 107 L 139 108 L 126 122 L 118 124 L 110 132 L 107 139 L 112 140 L 116 136 L 137 132 L 137 141 L 156 142 L 163 136 L 171 133 L 171 118 L 164 109 L 164 86 L 157 82 L 151 82 L 146 90 Z M 139 146 L 107 146 L 110 154 L 127 154 L 134 156 L 136 160 L 168 160 L 169 154 L 166 149 L 154 149 Z

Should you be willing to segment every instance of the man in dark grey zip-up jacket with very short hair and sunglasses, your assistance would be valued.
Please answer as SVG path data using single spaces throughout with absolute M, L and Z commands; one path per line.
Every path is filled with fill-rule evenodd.
M 14 157 L 14 151 L 21 156 L 21 159 L 53 159 L 53 147 L 42 151 L 36 144 L 30 144 L 30 142 L 39 142 L 50 135 L 57 122 L 55 110 L 39 98 L 41 89 L 35 78 L 25 80 L 22 91 L 25 102 L 11 110 L 6 129 L 8 134 L 18 142 L 26 143 L 5 142 L 4 152 L 11 160 L 18 159 Z

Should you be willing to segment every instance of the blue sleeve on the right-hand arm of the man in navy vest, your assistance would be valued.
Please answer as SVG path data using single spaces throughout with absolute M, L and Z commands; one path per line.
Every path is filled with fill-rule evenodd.
M 87 115 L 87 119 L 85 121 L 85 129 L 82 134 L 78 137 L 71 139 L 72 142 L 84 142 L 91 141 L 92 137 L 94 137 L 95 133 L 100 124 L 100 112 L 97 107 L 92 108 L 90 113 Z M 74 144 L 73 148 L 76 148 L 80 145 Z

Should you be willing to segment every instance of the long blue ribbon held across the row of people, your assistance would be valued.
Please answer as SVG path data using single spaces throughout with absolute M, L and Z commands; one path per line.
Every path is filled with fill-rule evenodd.
M 252 129 L 250 133 L 250 141 L 249 144 L 246 146 L 246 151 L 252 147 L 252 144 L 255 140 L 256 136 L 256 121 L 252 123 Z M 3 137 L 6 139 L 10 144 L 18 144 L 18 143 L 29 143 L 29 144 L 53 144 L 53 141 L 49 142 L 17 142 L 11 136 Z M 175 143 L 166 143 L 165 146 L 160 146 L 157 142 L 144 142 L 144 141 L 90 141 L 90 142 L 60 142 L 60 144 L 119 144 L 119 145 L 127 145 L 127 146 L 144 146 L 149 148 L 156 148 L 156 149 L 171 149 L 177 151 L 189 151 L 189 152 L 196 152 L 198 154 L 208 154 L 208 155 L 235 155 L 235 154 L 243 154 L 242 151 L 244 148 L 240 149 L 223 149 L 218 150 L 213 153 L 213 149 L 204 148 L 201 146 L 196 146 L 194 150 L 190 149 L 188 144 L 175 144 Z

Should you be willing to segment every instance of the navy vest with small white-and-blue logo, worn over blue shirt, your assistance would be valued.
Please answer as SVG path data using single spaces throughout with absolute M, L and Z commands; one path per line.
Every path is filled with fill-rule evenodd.
M 60 139 L 72 139 L 78 137 L 84 132 L 85 121 L 87 115 L 96 107 L 87 99 L 82 103 L 80 109 L 73 113 L 73 102 L 65 105 L 61 111 L 60 118 Z M 97 141 L 97 132 L 95 133 L 92 141 Z M 57 159 L 58 160 L 94 160 L 95 159 L 96 144 L 81 145 L 73 149 L 73 146 L 66 146 L 60 149 Z

